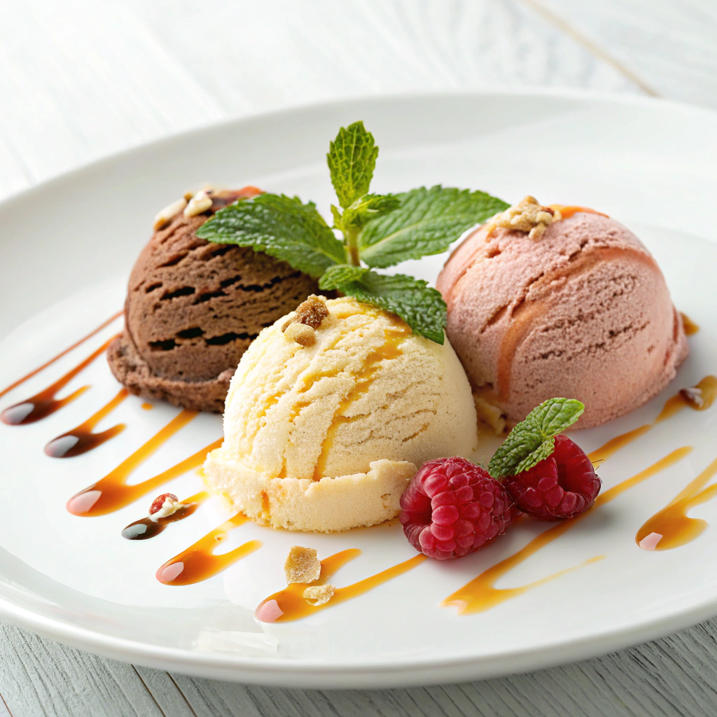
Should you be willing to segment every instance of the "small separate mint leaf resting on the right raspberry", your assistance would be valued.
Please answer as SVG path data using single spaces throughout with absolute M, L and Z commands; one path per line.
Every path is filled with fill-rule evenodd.
M 575 399 L 544 401 L 508 434 L 490 459 L 488 473 L 503 478 L 537 465 L 554 451 L 556 435 L 574 424 L 584 410 Z

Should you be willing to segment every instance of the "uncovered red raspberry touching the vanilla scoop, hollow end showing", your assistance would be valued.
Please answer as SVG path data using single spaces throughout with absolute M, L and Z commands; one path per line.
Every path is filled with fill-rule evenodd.
M 473 553 L 502 536 L 513 500 L 488 471 L 465 458 L 424 463 L 401 496 L 399 516 L 414 548 L 437 560 Z

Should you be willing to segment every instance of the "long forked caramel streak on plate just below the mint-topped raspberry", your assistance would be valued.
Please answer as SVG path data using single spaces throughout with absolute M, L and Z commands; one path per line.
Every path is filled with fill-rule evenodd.
M 491 566 L 487 570 L 483 571 L 478 577 L 471 580 L 469 583 L 465 584 L 460 589 L 457 589 L 456 592 L 450 594 L 442 602 L 442 606 L 457 607 L 458 614 L 461 615 L 484 612 L 485 610 L 489 610 L 490 608 L 495 607 L 496 605 L 505 602 L 506 600 L 523 594 L 524 592 L 528 591 L 533 587 L 537 587 L 538 585 L 541 585 L 549 580 L 554 580 L 559 576 L 564 575 L 568 571 L 581 567 L 581 565 L 579 565 L 574 568 L 569 568 L 568 570 L 560 571 L 559 573 L 550 575 L 546 578 L 543 578 L 542 580 L 538 580 L 528 585 L 521 585 L 520 587 L 516 588 L 503 589 L 495 587 L 495 583 L 498 581 L 498 579 L 503 577 L 503 575 L 505 575 L 508 571 L 511 571 L 514 567 L 521 564 L 523 561 L 525 561 L 532 555 L 536 554 L 538 550 L 544 548 L 549 543 L 552 543 L 556 538 L 559 538 L 566 531 L 569 531 L 583 518 L 585 518 L 585 516 L 588 516 L 590 513 L 599 508 L 600 505 L 609 503 L 611 500 L 617 498 L 618 495 L 625 493 L 626 490 L 634 488 L 635 485 L 642 483 L 642 481 L 647 480 L 647 478 L 651 478 L 656 473 L 660 473 L 661 470 L 665 470 L 665 468 L 674 465 L 679 460 L 682 460 L 692 450 L 693 448 L 690 446 L 685 446 L 682 448 L 678 448 L 677 450 L 673 450 L 673 452 L 668 453 L 668 455 L 653 463 L 652 465 L 650 465 L 650 467 L 647 467 L 645 468 L 645 470 L 640 471 L 640 473 L 633 475 L 632 478 L 627 478 L 627 480 L 623 480 L 621 483 L 618 483 L 609 490 L 606 490 L 604 493 L 601 493 L 597 496 L 597 499 L 595 500 L 595 505 L 590 508 L 589 511 L 582 513 L 581 516 L 577 516 L 576 518 L 571 518 L 571 520 L 569 521 L 564 521 L 562 523 L 558 523 L 552 528 L 548 528 L 548 530 L 544 531 L 539 536 L 533 538 L 533 540 L 531 540 L 517 553 L 508 556 L 508 558 L 505 558 L 499 563 L 496 563 L 495 565 Z M 602 559 L 602 557 L 603 556 L 596 556 L 592 559 L 589 559 L 582 565 L 594 563 L 595 561 Z

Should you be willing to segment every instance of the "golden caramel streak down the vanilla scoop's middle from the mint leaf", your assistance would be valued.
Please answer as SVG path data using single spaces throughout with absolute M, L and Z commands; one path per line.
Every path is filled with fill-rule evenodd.
M 386 329 L 384 343 L 378 348 L 375 348 L 374 351 L 371 351 L 369 356 L 366 357 L 366 361 L 364 361 L 364 365 L 361 367 L 361 372 L 355 376 L 356 384 L 354 384 L 353 389 L 346 394 L 346 397 L 343 398 L 341 403 L 338 404 L 338 408 L 336 412 L 334 412 L 333 421 L 331 422 L 331 426 L 328 427 L 326 438 L 323 440 L 323 445 L 321 446 L 320 455 L 316 460 L 313 480 L 321 480 L 321 478 L 326 475 L 328 453 L 331 451 L 338 430 L 343 424 L 350 423 L 356 419 L 356 417 L 353 416 L 345 416 L 343 413 L 353 402 L 369 392 L 371 384 L 373 384 L 383 361 L 397 359 L 402 355 L 401 344 L 410 334 L 411 328 L 408 324 L 397 317 L 393 326 Z

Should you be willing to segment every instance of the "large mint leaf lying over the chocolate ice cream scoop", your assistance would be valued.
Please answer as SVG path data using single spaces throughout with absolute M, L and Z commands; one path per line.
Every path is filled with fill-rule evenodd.
M 284 194 L 260 194 L 219 209 L 196 235 L 218 244 L 252 247 L 313 277 L 346 261 L 343 244 L 315 204 Z

